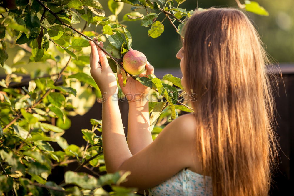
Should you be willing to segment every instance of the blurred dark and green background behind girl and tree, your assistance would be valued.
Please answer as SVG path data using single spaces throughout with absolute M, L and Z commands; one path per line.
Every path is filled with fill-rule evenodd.
M 151 0 L 153 1 L 153 0 Z M 280 160 L 279 168 L 274 177 L 274 184 L 271 189 L 270 195 L 293 195 L 291 185 L 294 185 L 294 171 L 291 157 L 294 157 L 294 0 L 283 0 L 283 1 L 270 1 L 270 0 L 255 0 L 261 6 L 263 6 L 268 12 L 269 16 L 259 16 L 249 12 L 245 12 L 249 19 L 255 24 L 262 41 L 264 42 L 265 49 L 268 54 L 273 58 L 275 64 L 280 64 L 283 79 L 278 84 L 278 90 L 275 92 L 275 100 L 277 104 L 277 134 L 280 139 Z M 106 16 L 112 13 L 107 8 L 108 0 L 100 1 L 105 9 Z M 243 0 L 240 1 L 244 3 Z M 237 4 L 235 0 L 186 0 L 180 5 L 181 8 L 187 8 L 187 10 L 200 8 L 209 8 L 212 6 L 218 7 L 235 7 Z M 132 12 L 131 5 L 125 4 L 123 10 L 118 15 L 119 20 L 122 21 L 123 16 L 126 13 Z M 136 10 L 142 14 L 145 14 L 145 10 Z M 159 21 L 163 19 L 163 14 L 158 18 Z M 81 21 L 80 24 L 74 25 L 76 28 L 83 28 L 85 21 Z M 143 52 L 148 61 L 155 67 L 155 74 L 158 78 L 162 77 L 163 74 L 171 73 L 175 76 L 180 77 L 179 72 L 180 61 L 176 58 L 176 53 L 181 48 L 179 35 L 175 29 L 171 26 L 168 20 L 163 22 L 165 29 L 163 34 L 158 38 L 148 37 L 148 29 L 150 27 L 140 26 L 141 21 L 126 21 L 123 24 L 127 25 L 127 29 L 131 32 L 133 38 L 132 48 Z M 175 22 L 178 26 L 177 22 Z M 101 26 L 98 26 L 97 31 L 101 31 Z M 95 31 L 95 26 L 91 25 L 86 28 L 86 31 Z M 195 35 L 197 36 L 197 35 Z M 52 43 L 50 43 L 52 44 Z M 105 46 L 108 43 L 104 44 Z M 46 62 L 29 62 L 29 53 L 25 54 L 25 57 L 18 64 L 15 57 L 17 51 L 21 50 L 18 46 L 8 45 L 7 52 L 9 58 L 6 64 L 14 67 L 24 67 L 29 72 L 33 72 L 36 68 L 46 70 Z M 58 53 L 56 53 L 57 55 Z M 1 67 L 1 66 L 0 66 Z M 3 76 L 4 69 L 0 68 L 0 76 Z M 89 92 L 85 96 L 85 102 L 89 102 L 88 97 L 93 94 Z M 93 101 L 93 102 L 92 102 Z M 91 101 L 91 107 L 88 108 L 88 112 L 81 115 L 70 117 L 72 126 L 68 129 L 64 137 L 67 139 L 69 144 L 76 144 L 78 146 L 85 145 L 85 141 L 81 139 L 81 129 L 91 129 L 86 127 L 89 124 L 89 119 L 101 119 L 101 104 L 95 102 L 95 98 Z M 95 104 L 93 105 L 93 103 Z M 127 119 L 128 119 L 128 105 L 121 103 L 121 113 L 123 118 L 124 126 L 127 130 Z M 81 123 L 86 122 L 86 123 Z M 73 137 L 73 135 L 75 137 Z M 55 149 L 58 147 L 54 147 Z M 56 149 L 57 150 L 57 149 Z M 292 162 L 292 164 L 291 164 Z M 75 166 L 72 166 L 73 168 Z M 71 170 L 69 166 L 67 170 Z M 64 173 L 64 167 L 55 168 L 52 171 L 52 178 Z

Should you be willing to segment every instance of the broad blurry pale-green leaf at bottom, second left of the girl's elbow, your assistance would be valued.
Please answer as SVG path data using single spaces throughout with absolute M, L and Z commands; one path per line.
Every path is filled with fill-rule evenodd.
M 100 186 L 98 180 L 85 173 L 76 173 L 72 171 L 67 171 L 64 174 L 64 181 L 66 184 L 75 184 L 83 189 L 96 189 Z

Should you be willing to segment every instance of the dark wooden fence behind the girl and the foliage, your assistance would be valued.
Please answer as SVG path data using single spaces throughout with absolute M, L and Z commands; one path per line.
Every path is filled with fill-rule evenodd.
M 276 132 L 279 136 L 281 150 L 279 151 L 279 165 L 273 178 L 274 183 L 270 190 L 270 195 L 293 195 L 293 193 L 291 194 L 291 192 L 293 192 L 291 185 L 294 185 L 294 167 L 291 167 L 291 165 L 294 164 L 294 64 L 282 64 L 280 65 L 280 69 L 283 77 L 278 83 L 278 90 L 275 92 L 275 101 L 276 120 L 278 125 L 276 127 Z M 277 69 L 273 71 L 276 72 Z M 163 75 L 167 73 L 181 77 L 179 69 L 157 69 L 155 72 L 158 78 L 162 78 Z M 120 101 L 119 106 L 123 125 L 125 127 L 125 134 L 127 134 L 128 103 L 126 101 Z M 96 102 L 83 116 L 77 115 L 69 117 L 72 125 L 71 128 L 65 132 L 63 137 L 69 144 L 85 146 L 86 142 L 82 138 L 81 129 L 91 129 L 92 126 L 89 123 L 90 119 L 101 119 L 101 111 L 101 104 Z M 55 150 L 61 150 L 56 143 L 52 143 L 52 145 Z M 68 167 L 55 167 L 48 180 L 54 180 L 56 183 L 59 183 L 63 179 L 64 172 L 67 170 L 74 170 L 77 166 L 76 163 L 72 163 Z M 83 169 L 81 171 L 88 172 Z

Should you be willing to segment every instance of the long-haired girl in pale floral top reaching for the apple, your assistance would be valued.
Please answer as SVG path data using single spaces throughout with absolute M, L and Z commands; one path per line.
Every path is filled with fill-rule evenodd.
M 90 44 L 91 75 L 106 95 L 106 169 L 131 171 L 122 186 L 148 189 L 153 195 L 268 195 L 277 156 L 274 99 L 265 50 L 243 12 L 195 11 L 185 24 L 176 57 L 182 84 L 187 93 L 197 94 L 197 101 L 190 102 L 193 113 L 169 123 L 154 141 L 148 101 L 143 99 L 149 88 L 132 78 L 123 87 L 118 75 L 129 95 L 126 141 L 115 99 L 116 77 L 103 51 Z M 153 74 L 149 63 L 146 70 L 146 75 Z

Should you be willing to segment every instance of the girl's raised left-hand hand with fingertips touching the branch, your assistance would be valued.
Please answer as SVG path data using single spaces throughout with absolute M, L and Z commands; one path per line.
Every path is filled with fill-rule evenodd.
M 116 77 L 109 67 L 106 54 L 98 48 L 93 41 L 90 41 L 91 54 L 90 54 L 90 73 L 99 89 L 101 90 L 104 98 L 110 97 L 118 93 Z M 100 46 L 103 43 L 100 41 Z M 99 63 L 100 62 L 100 63 Z

